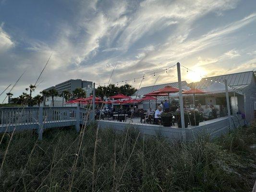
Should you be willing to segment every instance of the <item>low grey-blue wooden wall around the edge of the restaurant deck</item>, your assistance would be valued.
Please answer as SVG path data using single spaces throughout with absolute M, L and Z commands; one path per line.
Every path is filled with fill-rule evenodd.
M 117 132 L 125 132 L 128 128 L 135 128 L 142 135 L 159 135 L 176 141 L 181 140 L 183 136 L 187 141 L 192 141 L 198 134 L 209 134 L 211 138 L 214 138 L 228 132 L 229 129 L 244 125 L 244 120 L 240 116 L 232 116 L 231 119 L 231 122 L 229 122 L 228 117 L 203 121 L 200 122 L 198 126 L 189 125 L 188 128 L 184 129 L 184 132 L 182 131 L 182 128 L 178 128 L 177 126 L 163 127 L 162 125 L 140 123 L 140 118 L 134 118 L 133 122 L 130 120 L 127 120 L 126 122 L 117 120 L 98 120 L 98 124 L 100 129 L 109 128 L 114 129 Z

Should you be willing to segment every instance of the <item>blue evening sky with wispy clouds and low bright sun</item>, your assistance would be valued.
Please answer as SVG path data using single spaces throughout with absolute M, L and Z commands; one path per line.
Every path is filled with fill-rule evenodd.
M 51 54 L 34 95 L 68 79 L 125 82 L 177 62 L 193 71 L 182 67 L 188 83 L 251 71 L 256 1 L 0 0 L 0 93 L 23 72 L 12 93 L 25 92 Z M 170 82 L 176 67 L 127 81 L 136 88 Z

